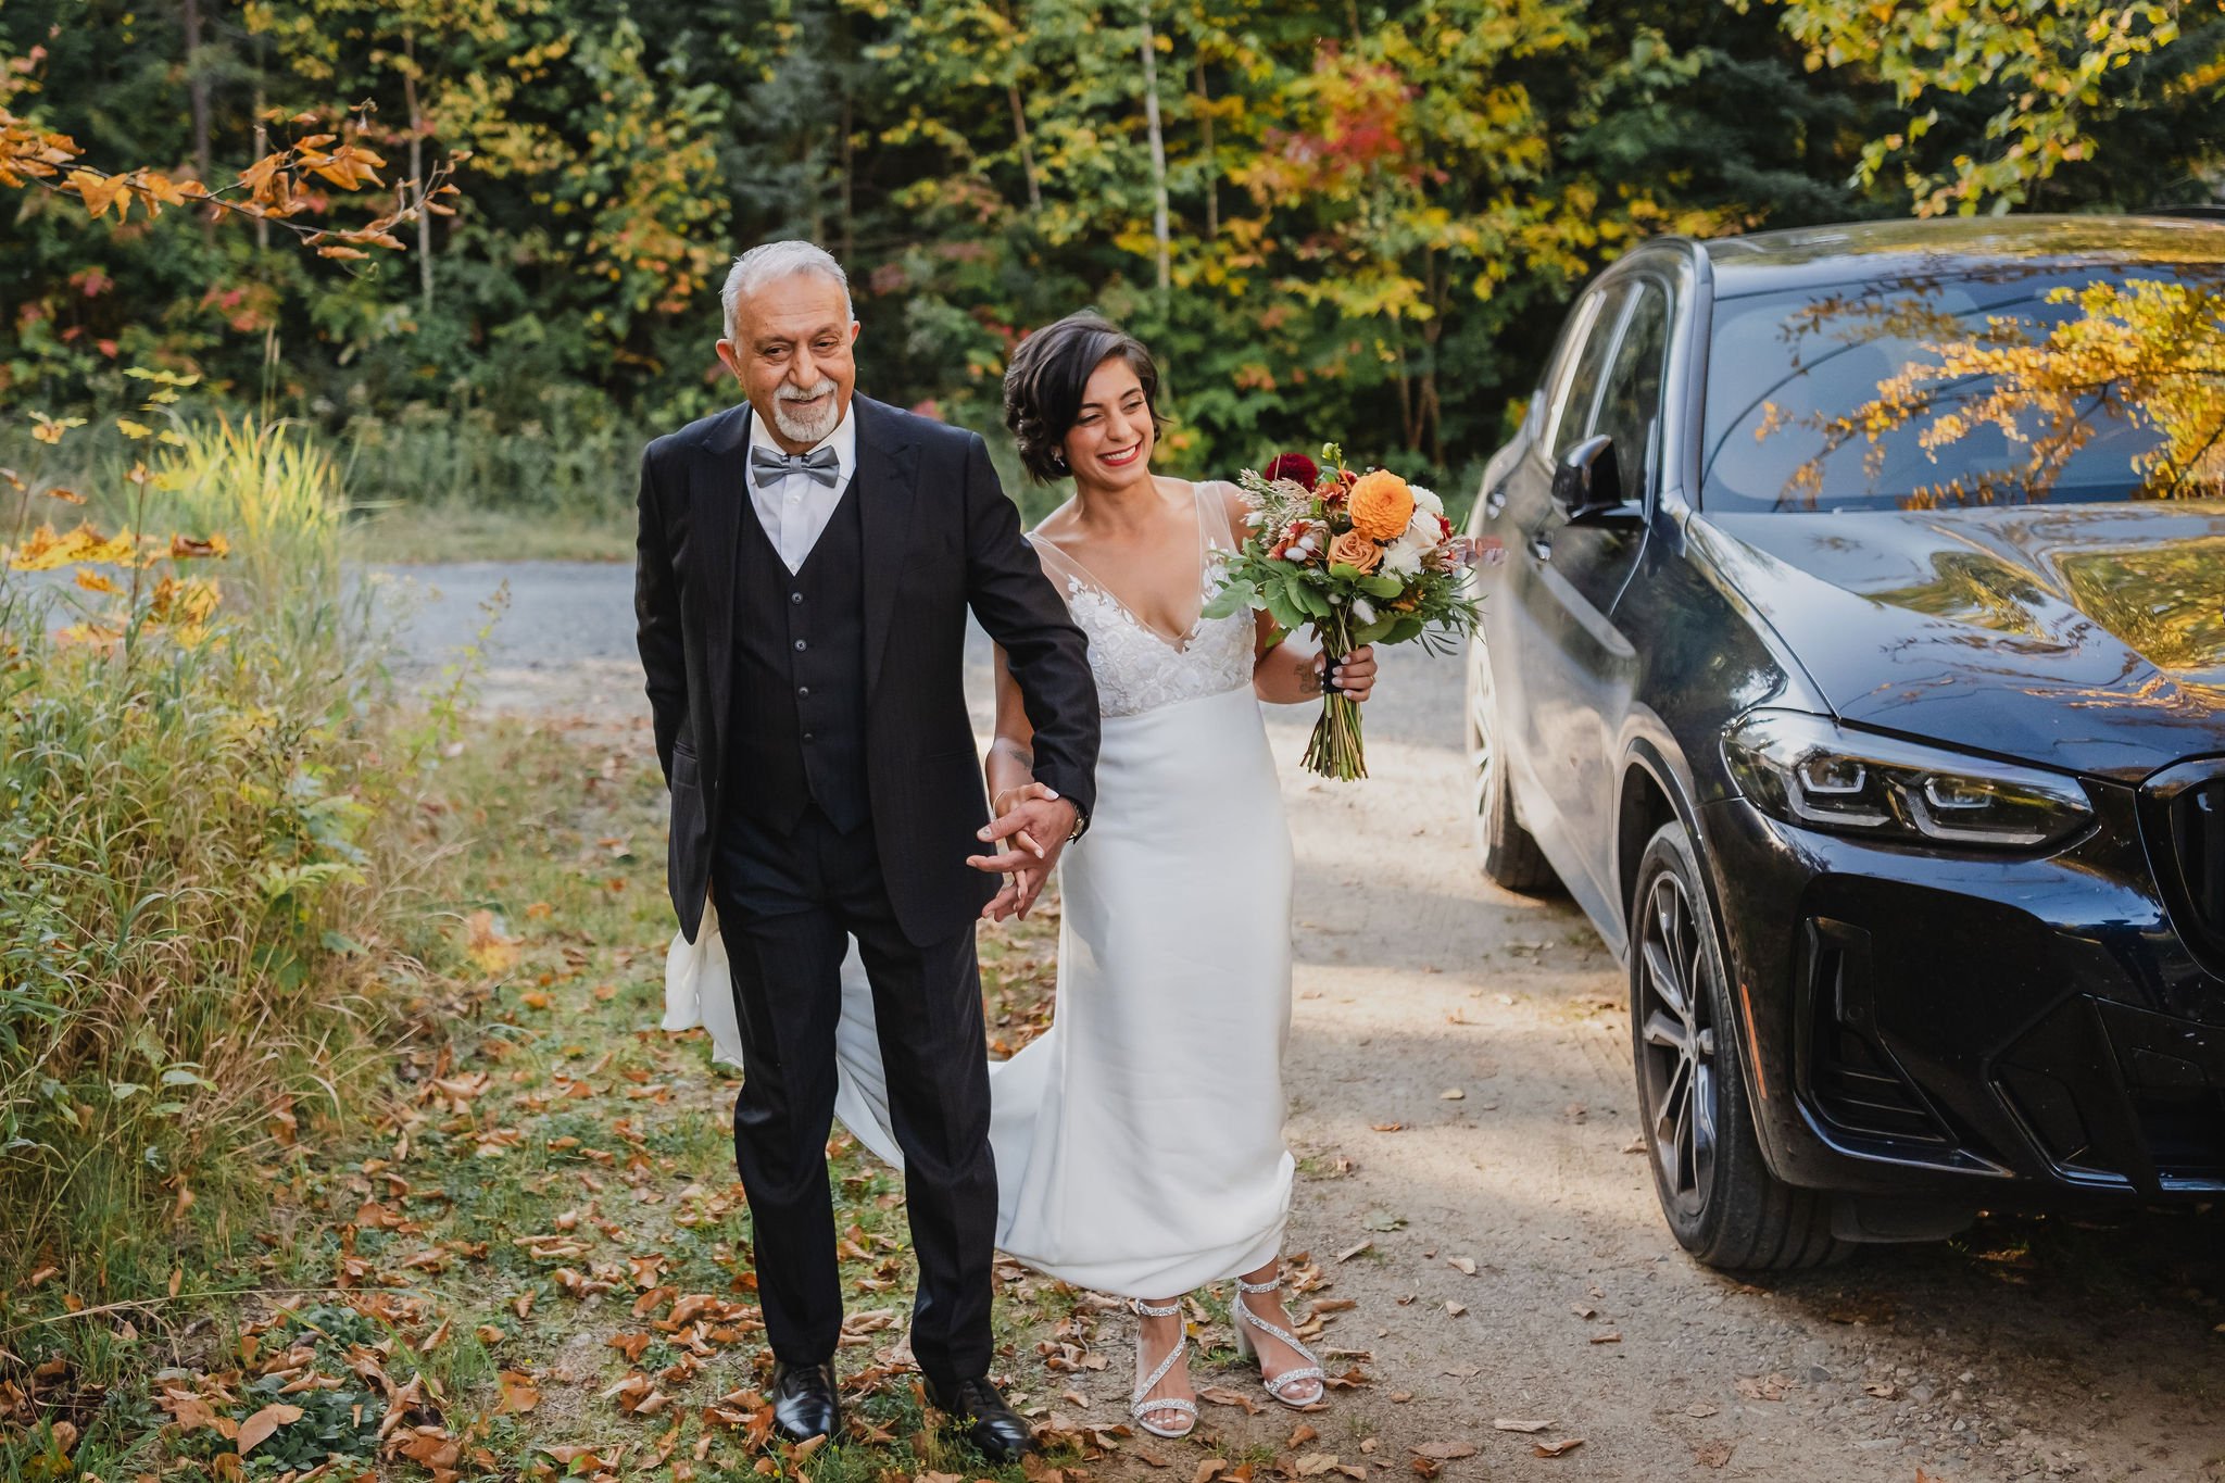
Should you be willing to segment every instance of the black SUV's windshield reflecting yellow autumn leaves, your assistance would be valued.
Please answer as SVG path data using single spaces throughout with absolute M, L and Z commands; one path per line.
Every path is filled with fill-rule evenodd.
M 2218 265 L 1974 265 L 1715 305 L 1709 509 L 2218 496 Z

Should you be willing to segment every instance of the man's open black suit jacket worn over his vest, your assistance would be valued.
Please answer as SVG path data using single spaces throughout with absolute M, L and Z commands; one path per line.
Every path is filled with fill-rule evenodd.
M 966 716 L 966 609 L 1010 660 L 1035 723 L 1035 776 L 1095 809 L 1097 683 L 1081 629 L 1019 534 L 977 434 L 863 396 L 852 491 L 866 527 L 866 774 L 872 832 L 903 934 L 959 932 L 997 880 L 966 865 L 988 820 Z M 641 458 L 634 618 L 672 789 L 668 885 L 694 940 L 734 716 L 734 571 L 754 520 L 750 407 L 690 422 Z

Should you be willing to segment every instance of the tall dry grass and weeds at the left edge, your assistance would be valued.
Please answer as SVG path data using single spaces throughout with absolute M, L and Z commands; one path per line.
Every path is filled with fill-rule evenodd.
M 53 569 L 0 571 L 0 1292 L 220 1256 L 303 1125 L 376 1101 L 429 943 L 385 825 L 427 743 L 343 583 L 336 467 L 285 427 L 182 438 L 107 502 L 129 538 L 27 534 Z

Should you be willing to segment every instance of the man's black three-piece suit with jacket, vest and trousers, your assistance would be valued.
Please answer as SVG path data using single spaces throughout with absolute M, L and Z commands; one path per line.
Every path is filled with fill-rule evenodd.
M 981 438 L 852 400 L 857 469 L 790 574 L 750 502 L 750 407 L 650 445 L 634 611 L 672 789 L 670 887 L 705 892 L 743 1041 L 734 1154 L 774 1356 L 841 1332 L 825 1172 L 839 969 L 872 978 L 919 1254 L 912 1352 L 934 1381 L 990 1363 L 997 1172 L 970 865 L 988 820 L 963 694 L 968 607 L 1035 723 L 1035 778 L 1090 812 L 1097 687 Z

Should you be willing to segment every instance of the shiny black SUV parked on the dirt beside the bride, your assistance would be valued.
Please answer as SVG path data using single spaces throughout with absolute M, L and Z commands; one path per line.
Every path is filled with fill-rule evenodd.
M 2225 225 L 1649 242 L 1468 531 L 1482 865 L 1626 958 L 1687 1250 L 2225 1192 Z

